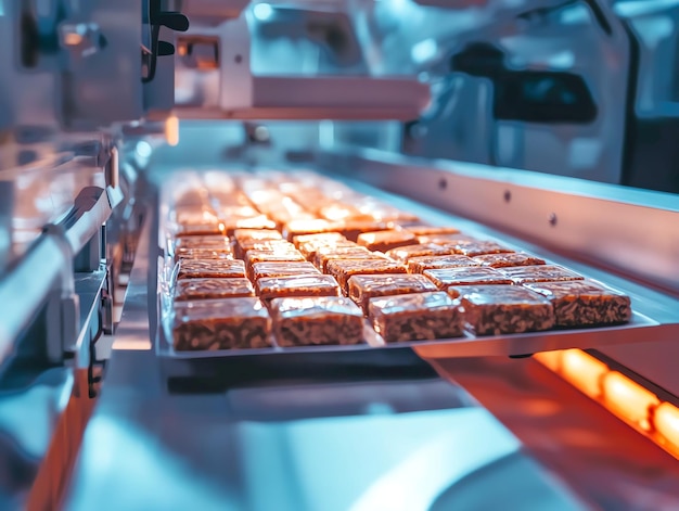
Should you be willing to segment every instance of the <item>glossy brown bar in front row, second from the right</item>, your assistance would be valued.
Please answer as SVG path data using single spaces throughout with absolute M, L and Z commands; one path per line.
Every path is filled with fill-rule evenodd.
M 467 328 L 476 335 L 549 330 L 554 309 L 542 295 L 520 285 L 452 288 L 459 295 Z

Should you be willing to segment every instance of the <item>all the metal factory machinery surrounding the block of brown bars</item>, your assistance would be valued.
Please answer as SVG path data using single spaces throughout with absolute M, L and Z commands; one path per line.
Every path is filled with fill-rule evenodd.
M 0 508 L 679 508 L 678 10 L 0 0 Z M 246 178 L 529 252 L 631 318 L 179 354 L 168 196 Z

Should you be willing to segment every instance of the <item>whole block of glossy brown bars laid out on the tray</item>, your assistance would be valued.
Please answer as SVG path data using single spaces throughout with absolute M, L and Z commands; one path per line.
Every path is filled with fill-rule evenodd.
M 183 174 L 164 201 L 176 350 L 357 344 L 366 318 L 393 343 L 631 317 L 623 293 L 313 173 Z

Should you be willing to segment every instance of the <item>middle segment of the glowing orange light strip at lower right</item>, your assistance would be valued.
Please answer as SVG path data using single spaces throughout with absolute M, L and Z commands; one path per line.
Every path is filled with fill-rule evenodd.
M 617 371 L 604 376 L 603 399 L 613 413 L 646 431 L 651 407 L 661 404 L 655 394 Z

